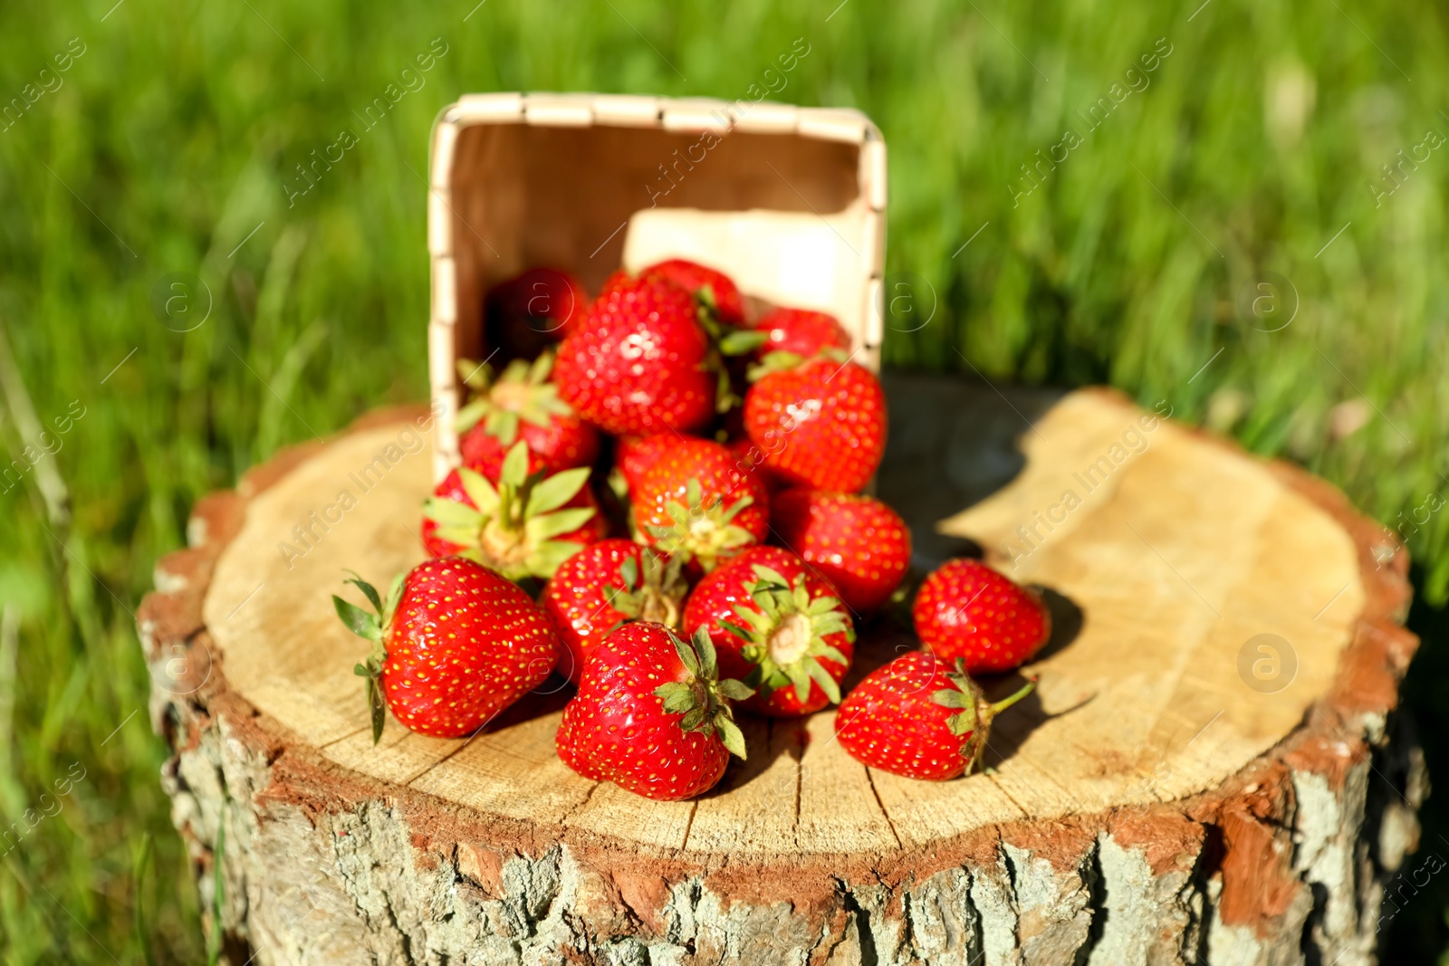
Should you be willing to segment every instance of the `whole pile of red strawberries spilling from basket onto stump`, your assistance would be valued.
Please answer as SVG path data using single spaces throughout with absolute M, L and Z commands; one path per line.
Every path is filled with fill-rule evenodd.
M 575 772 L 658 799 L 713 786 L 745 756 L 736 708 L 840 704 L 861 762 L 945 779 L 975 765 L 991 704 L 969 678 L 1027 660 L 1035 592 L 951 560 L 916 594 L 923 649 L 848 695 L 856 626 L 910 568 L 901 517 L 862 495 L 885 449 L 885 397 L 820 311 L 746 313 L 687 261 L 616 272 L 590 300 L 532 269 L 494 288 L 504 359 L 464 362 L 462 465 L 426 501 L 433 559 L 372 605 L 333 598 L 372 642 L 356 665 L 374 740 L 465 736 L 554 672 L 577 685 L 558 730 Z M 843 700 L 842 700 L 843 698 Z

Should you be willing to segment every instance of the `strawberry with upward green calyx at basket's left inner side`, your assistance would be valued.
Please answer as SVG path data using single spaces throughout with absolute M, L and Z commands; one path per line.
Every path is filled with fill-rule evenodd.
M 551 352 L 533 364 L 514 359 L 497 379 L 485 364 L 458 364 L 474 391 L 472 401 L 458 411 L 464 466 L 497 482 L 503 458 L 520 439 L 529 446 L 530 474 L 594 465 L 598 430 L 558 398 L 558 387 L 548 381 L 552 368 Z

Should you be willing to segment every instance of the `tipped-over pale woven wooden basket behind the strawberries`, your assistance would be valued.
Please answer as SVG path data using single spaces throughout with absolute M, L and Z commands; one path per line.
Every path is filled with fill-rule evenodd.
M 885 143 L 856 110 L 606 94 L 469 94 L 432 135 L 433 471 L 458 463 L 459 358 L 483 300 L 532 266 L 597 290 L 693 258 L 772 304 L 820 308 L 877 368 Z

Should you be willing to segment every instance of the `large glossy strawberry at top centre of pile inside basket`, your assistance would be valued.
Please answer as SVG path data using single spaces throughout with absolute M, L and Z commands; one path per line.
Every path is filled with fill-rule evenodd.
M 687 291 L 662 278 L 623 278 L 564 339 L 554 381 L 575 413 L 616 436 L 687 432 L 714 416 L 709 362 Z

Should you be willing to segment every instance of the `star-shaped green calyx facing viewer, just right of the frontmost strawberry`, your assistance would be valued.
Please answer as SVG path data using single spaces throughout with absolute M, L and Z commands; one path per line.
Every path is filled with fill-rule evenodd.
M 803 704 L 810 697 L 810 682 L 832 702 L 840 701 L 840 685 L 820 663 L 827 658 L 840 666 L 851 659 L 826 642 L 833 634 L 845 634 L 855 643 L 855 629 L 835 597 L 811 600 L 801 574 L 791 584 L 780 571 L 753 565 L 755 582 L 746 585 L 756 608 L 736 604 L 735 613 L 742 624 L 720 621 L 724 630 L 745 642 L 740 656 L 755 669 L 745 684 L 756 688 L 762 697 L 769 697 L 780 688 L 793 686 L 796 698 Z

